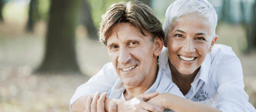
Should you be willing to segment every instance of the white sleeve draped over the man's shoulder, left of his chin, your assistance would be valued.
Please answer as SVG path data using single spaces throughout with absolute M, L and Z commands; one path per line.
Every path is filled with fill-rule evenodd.
M 99 73 L 77 88 L 77 91 L 70 100 L 70 106 L 81 96 L 96 93 L 97 91 L 100 93 L 109 91 L 109 89 L 114 86 L 114 82 L 117 78 L 117 72 L 114 70 L 112 63 L 109 62 L 105 64 Z

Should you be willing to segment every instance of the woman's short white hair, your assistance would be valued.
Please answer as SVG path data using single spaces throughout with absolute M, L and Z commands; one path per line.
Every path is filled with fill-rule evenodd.
M 213 6 L 207 0 L 177 0 L 167 9 L 164 20 L 164 34 L 167 40 L 167 33 L 172 28 L 173 21 L 180 16 L 187 14 L 198 14 L 209 21 L 212 26 L 212 37 L 215 36 L 217 26 L 217 14 Z

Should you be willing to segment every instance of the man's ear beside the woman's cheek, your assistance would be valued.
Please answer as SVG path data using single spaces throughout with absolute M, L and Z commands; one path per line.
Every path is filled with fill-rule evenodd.
M 154 38 L 154 56 L 159 56 L 162 52 L 164 45 L 163 39 L 160 39 L 158 36 Z

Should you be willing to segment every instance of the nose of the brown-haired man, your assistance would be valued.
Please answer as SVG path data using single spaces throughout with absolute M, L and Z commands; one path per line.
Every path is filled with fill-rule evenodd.
M 127 63 L 130 59 L 132 58 L 131 54 L 129 54 L 128 49 L 123 48 L 120 49 L 119 51 L 119 57 L 118 57 L 118 62 L 125 64 Z

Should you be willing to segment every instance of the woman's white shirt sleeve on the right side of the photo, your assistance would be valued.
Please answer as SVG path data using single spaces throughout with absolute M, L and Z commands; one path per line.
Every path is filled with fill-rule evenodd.
M 231 49 L 230 49 L 231 50 Z M 231 50 L 232 51 L 232 50 Z M 250 111 L 248 95 L 244 91 L 242 66 L 235 53 L 225 52 L 214 62 L 215 89 L 219 94 L 219 103 L 216 108 L 224 112 Z

